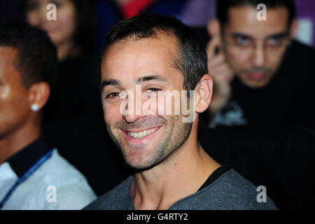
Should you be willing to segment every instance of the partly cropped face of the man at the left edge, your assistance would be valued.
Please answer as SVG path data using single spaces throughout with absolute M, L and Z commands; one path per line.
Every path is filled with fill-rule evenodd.
M 23 125 L 29 114 L 27 88 L 15 68 L 17 52 L 0 46 L 0 139 Z

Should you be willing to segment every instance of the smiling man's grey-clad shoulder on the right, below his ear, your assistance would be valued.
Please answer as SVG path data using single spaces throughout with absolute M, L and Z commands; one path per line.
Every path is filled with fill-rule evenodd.
M 171 209 L 260 210 L 277 209 L 272 200 L 258 202 L 260 191 L 243 176 L 230 169 L 214 183 L 174 204 Z

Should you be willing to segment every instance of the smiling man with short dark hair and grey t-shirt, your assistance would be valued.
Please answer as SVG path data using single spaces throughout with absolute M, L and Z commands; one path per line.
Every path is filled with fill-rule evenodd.
M 214 161 L 197 140 L 212 79 L 190 27 L 147 13 L 118 22 L 105 38 L 100 76 L 106 125 L 135 174 L 85 209 L 276 209 L 269 197 L 259 203 L 256 188 Z M 137 85 L 141 101 L 133 97 Z M 180 104 L 167 98 L 187 90 L 195 91 L 181 95 Z M 195 118 L 183 122 L 185 106 L 168 115 L 169 102 L 153 100 L 162 97 L 174 111 L 187 99 Z

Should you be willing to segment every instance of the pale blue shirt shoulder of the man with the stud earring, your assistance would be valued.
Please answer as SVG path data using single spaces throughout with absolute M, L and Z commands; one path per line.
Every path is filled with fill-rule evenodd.
M 4 209 L 82 209 L 95 198 L 83 174 L 54 150 L 51 157 L 18 186 Z

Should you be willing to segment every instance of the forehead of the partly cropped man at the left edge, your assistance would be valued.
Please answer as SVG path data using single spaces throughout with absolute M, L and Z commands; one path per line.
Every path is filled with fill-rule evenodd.
M 0 46 L 0 78 L 2 80 L 20 80 L 20 73 L 15 68 L 18 50 Z

